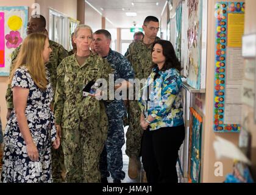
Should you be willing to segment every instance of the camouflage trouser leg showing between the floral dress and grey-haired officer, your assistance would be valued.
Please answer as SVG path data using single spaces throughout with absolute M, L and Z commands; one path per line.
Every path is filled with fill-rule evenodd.
M 62 174 L 64 168 L 64 154 L 62 150 L 62 144 L 56 150 L 51 147 L 52 153 L 52 179 L 54 183 L 64 182 Z

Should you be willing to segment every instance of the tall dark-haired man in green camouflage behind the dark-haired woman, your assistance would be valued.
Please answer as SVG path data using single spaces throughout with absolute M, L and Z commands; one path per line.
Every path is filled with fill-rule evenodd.
M 144 38 L 141 41 L 134 41 L 129 45 L 126 57 L 132 64 L 135 72 L 135 79 L 147 79 L 151 74 L 151 49 L 154 41 L 159 40 L 157 32 L 159 21 L 155 16 L 147 16 L 143 23 Z M 138 176 L 138 157 L 140 157 L 141 137 L 143 129 L 140 127 L 140 107 L 138 101 L 129 101 L 127 105 L 129 129 L 126 133 L 126 154 L 129 156 L 128 175 L 131 179 Z

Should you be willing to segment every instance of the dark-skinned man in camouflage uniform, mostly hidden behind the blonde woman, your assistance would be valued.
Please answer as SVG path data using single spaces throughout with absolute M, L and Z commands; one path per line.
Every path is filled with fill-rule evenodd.
M 27 35 L 32 34 L 34 32 L 41 32 L 43 34 L 45 34 L 47 32 L 46 31 L 46 20 L 45 20 L 44 16 L 32 15 L 30 17 L 29 23 L 27 23 Z M 49 44 L 52 49 L 52 52 L 49 57 L 49 62 L 46 63 L 46 67 L 50 74 L 52 89 L 55 91 L 56 80 L 57 80 L 56 69 L 57 69 L 57 66 L 60 64 L 60 62 L 62 62 L 62 60 L 68 56 L 68 52 L 59 43 L 49 40 Z M 15 61 L 16 57 L 18 56 L 20 48 L 21 48 L 21 45 L 12 52 L 12 55 L 11 55 L 12 63 L 10 66 L 10 72 L 12 71 L 14 61 Z M 13 110 L 13 94 L 12 94 L 12 89 L 11 89 L 10 85 L 8 85 L 5 99 L 6 99 L 7 108 L 8 108 L 6 118 L 8 120 L 10 117 L 10 113 Z M 54 104 L 54 101 L 52 102 L 52 104 Z M 62 147 L 60 146 L 59 149 L 57 149 L 57 150 L 52 148 L 52 176 L 53 176 L 54 182 L 62 181 L 62 179 L 61 179 L 62 166 L 63 166 Z

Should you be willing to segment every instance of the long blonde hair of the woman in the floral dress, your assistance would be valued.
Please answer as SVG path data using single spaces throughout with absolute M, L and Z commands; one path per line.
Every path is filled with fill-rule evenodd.
M 48 37 L 41 33 L 27 35 L 15 60 L 12 73 L 10 74 L 9 84 L 12 83 L 16 69 L 24 65 L 37 87 L 42 90 L 46 89 L 48 80 L 46 79 L 46 68 L 43 60 L 43 50 L 46 39 L 48 39 Z

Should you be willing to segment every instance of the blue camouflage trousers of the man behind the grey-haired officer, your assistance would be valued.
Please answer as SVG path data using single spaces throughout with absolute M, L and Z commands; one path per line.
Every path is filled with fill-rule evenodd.
M 123 169 L 123 152 L 124 141 L 123 118 L 108 120 L 108 133 L 105 147 L 101 153 L 99 169 L 101 177 L 123 180 L 126 174 Z M 110 174 L 109 174 L 110 172 Z

